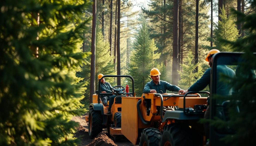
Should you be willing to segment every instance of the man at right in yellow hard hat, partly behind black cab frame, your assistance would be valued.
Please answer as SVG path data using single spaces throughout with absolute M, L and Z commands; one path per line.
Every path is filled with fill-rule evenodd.
M 207 53 L 207 56 L 205 58 L 205 60 L 207 62 L 209 62 L 209 66 L 212 66 L 212 56 L 216 53 L 219 53 L 220 51 L 217 49 L 212 49 Z M 230 77 L 234 77 L 235 76 L 235 72 L 230 69 L 227 65 L 217 65 L 217 72 L 222 73 L 224 75 L 228 75 Z M 186 94 L 189 91 L 201 91 L 203 90 L 207 85 L 210 86 L 210 74 L 211 74 L 211 68 L 207 69 L 204 74 L 202 75 L 202 77 L 197 80 L 191 87 L 189 87 L 186 91 L 183 92 L 183 94 Z M 217 77 L 218 78 L 218 77 Z M 231 90 L 230 87 L 228 86 L 228 84 L 217 81 L 217 94 L 221 94 L 221 95 L 229 95 Z M 208 106 L 206 111 L 205 111 L 205 115 L 204 115 L 205 119 L 209 119 L 210 118 L 210 107 Z M 209 139 L 209 124 L 205 124 L 205 134 L 206 134 L 206 138 Z

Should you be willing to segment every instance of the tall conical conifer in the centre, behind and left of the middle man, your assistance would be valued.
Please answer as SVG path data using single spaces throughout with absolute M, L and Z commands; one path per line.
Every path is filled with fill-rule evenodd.
M 150 81 L 150 70 L 157 66 L 155 60 L 159 58 L 160 54 L 155 53 L 156 50 L 154 40 L 149 37 L 146 22 L 143 21 L 136 36 L 128 68 L 129 75 L 134 78 L 135 92 L 138 96 L 142 94 L 145 84 Z

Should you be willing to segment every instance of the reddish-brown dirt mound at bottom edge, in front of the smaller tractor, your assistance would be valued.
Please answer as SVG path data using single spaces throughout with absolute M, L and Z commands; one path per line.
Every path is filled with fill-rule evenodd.
M 87 146 L 117 146 L 106 134 L 99 133 L 98 136 Z

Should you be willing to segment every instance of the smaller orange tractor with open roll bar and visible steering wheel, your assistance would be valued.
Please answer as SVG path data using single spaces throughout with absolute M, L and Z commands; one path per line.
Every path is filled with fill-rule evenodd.
M 104 77 L 128 77 L 132 81 L 132 92 L 129 92 L 129 86 L 114 86 L 112 88 L 112 93 L 116 96 L 114 98 L 114 103 L 111 107 L 111 113 L 108 114 L 109 101 L 108 105 L 105 106 L 102 104 L 101 96 L 112 96 L 112 93 L 101 93 L 100 85 L 101 80 Z M 92 103 L 89 106 L 89 115 L 85 117 L 90 138 L 95 138 L 100 132 L 102 132 L 103 128 L 108 129 L 108 134 L 113 138 L 113 140 L 117 140 L 116 138 L 121 133 L 121 113 L 122 113 L 122 98 L 121 97 L 132 97 L 135 96 L 134 93 L 134 80 L 129 75 L 104 75 L 99 79 L 99 87 L 96 94 L 92 96 Z

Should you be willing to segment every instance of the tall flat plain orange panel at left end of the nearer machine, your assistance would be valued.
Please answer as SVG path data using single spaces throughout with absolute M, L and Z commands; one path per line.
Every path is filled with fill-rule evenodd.
M 121 132 L 134 145 L 138 137 L 138 113 L 136 105 L 139 99 L 141 97 L 122 97 Z

